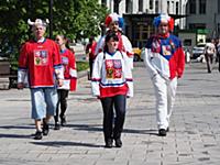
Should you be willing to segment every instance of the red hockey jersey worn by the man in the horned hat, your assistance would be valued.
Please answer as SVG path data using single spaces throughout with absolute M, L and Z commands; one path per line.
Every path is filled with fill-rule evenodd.
M 18 81 L 23 81 L 23 73 L 28 72 L 31 88 L 54 87 L 55 78 L 63 78 L 61 62 L 59 48 L 54 41 L 29 41 L 20 52 Z

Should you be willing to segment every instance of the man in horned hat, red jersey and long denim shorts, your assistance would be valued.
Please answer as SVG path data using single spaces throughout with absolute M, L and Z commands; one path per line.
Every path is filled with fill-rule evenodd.
M 35 22 L 29 20 L 28 23 L 32 26 L 35 38 L 25 42 L 21 48 L 18 88 L 24 88 L 24 79 L 28 75 L 32 119 L 34 119 L 36 128 L 34 139 L 41 140 L 43 135 L 48 134 L 48 121 L 55 114 L 58 101 L 56 86 L 63 85 L 64 75 L 57 44 L 44 37 L 47 22 L 36 19 Z

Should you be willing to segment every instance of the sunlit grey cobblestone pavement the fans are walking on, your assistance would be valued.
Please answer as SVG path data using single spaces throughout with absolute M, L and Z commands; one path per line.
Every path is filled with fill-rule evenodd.
M 122 148 L 105 148 L 102 110 L 86 77 L 68 99 L 68 125 L 33 140 L 30 92 L 0 90 L 1 165 L 219 165 L 220 74 L 187 64 L 179 80 L 170 132 L 157 136 L 155 98 L 142 63 L 133 70 L 135 92 L 128 100 Z

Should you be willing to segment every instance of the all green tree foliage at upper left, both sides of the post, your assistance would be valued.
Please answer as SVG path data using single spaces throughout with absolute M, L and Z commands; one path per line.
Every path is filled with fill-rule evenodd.
M 64 34 L 75 41 L 97 36 L 107 12 L 98 0 L 53 0 L 53 36 Z M 0 53 L 13 50 L 18 55 L 31 37 L 28 19 L 50 19 L 50 0 L 0 0 Z

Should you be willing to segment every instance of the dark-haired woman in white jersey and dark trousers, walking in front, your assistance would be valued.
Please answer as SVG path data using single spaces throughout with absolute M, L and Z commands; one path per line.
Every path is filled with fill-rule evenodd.
M 106 147 L 121 147 L 121 133 L 125 119 L 127 97 L 133 96 L 131 65 L 124 52 L 118 51 L 119 36 L 114 32 L 107 34 L 103 52 L 94 63 L 91 89 L 101 100 L 103 109 L 103 135 Z M 113 107 L 116 121 L 113 124 Z

